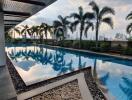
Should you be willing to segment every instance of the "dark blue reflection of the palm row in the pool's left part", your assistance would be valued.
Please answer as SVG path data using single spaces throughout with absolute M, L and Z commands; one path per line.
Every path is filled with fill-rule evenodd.
M 26 47 L 24 48 L 25 50 L 19 50 L 16 52 L 12 50 L 9 55 L 16 61 L 18 58 L 22 57 L 23 60 L 27 62 L 29 61 L 29 58 L 32 58 L 32 60 L 34 60 L 35 62 L 41 63 L 43 65 L 51 64 L 53 65 L 53 70 L 58 72 L 58 75 L 65 74 L 68 71 L 74 71 L 74 68 L 72 67 L 73 60 L 71 60 L 70 62 L 66 62 L 64 59 L 65 53 L 62 51 L 56 50 L 55 55 L 53 55 L 52 53 L 48 52 L 47 49 L 44 51 L 43 47 L 40 47 L 41 49 L 36 49 L 36 51 L 27 50 Z

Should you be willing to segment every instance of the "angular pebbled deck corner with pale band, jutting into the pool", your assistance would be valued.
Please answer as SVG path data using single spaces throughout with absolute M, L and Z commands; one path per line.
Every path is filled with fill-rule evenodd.
M 7 66 L 18 100 L 106 100 L 91 67 L 26 86 L 8 57 Z

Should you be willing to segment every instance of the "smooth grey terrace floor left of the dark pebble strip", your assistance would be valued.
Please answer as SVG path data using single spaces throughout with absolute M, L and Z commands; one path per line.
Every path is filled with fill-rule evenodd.
M 6 66 L 0 67 L 0 100 L 15 99 L 16 92 L 13 87 L 8 69 Z

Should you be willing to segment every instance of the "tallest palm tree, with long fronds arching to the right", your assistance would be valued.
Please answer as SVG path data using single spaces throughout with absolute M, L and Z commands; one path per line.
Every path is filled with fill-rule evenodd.
M 99 28 L 101 23 L 108 24 L 113 29 L 113 21 L 111 17 L 105 17 L 108 14 L 115 15 L 114 9 L 110 7 L 103 7 L 101 10 L 99 6 L 94 2 L 91 1 L 89 5 L 92 7 L 94 13 L 95 13 L 95 19 L 96 19 L 96 48 L 98 47 L 98 34 L 99 34 Z

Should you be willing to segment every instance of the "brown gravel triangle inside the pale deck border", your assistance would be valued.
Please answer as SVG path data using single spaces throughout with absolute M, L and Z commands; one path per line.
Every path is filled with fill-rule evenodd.
M 83 100 L 79 90 L 78 81 L 55 87 L 28 100 Z

